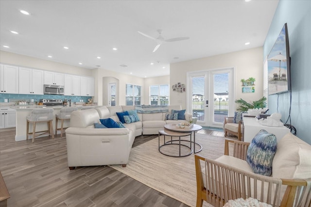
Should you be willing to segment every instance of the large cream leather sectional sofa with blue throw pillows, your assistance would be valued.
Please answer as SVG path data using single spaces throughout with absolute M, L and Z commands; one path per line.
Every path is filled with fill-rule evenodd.
M 168 112 L 139 113 L 140 121 L 124 124 L 126 128 L 94 128 L 100 119 L 120 121 L 117 112 L 135 110 L 135 106 L 96 107 L 73 111 L 70 127 L 66 129 L 68 166 L 95 166 L 122 164 L 126 166 L 134 139 L 140 135 L 158 134 L 165 124 L 189 122 L 192 114 L 185 113 L 185 120 L 165 120 L 172 110 L 181 106 L 169 106 Z

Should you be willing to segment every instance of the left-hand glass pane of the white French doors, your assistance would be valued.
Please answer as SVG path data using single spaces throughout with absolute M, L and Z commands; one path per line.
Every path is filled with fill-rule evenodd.
M 192 115 L 204 121 L 205 78 L 192 78 Z

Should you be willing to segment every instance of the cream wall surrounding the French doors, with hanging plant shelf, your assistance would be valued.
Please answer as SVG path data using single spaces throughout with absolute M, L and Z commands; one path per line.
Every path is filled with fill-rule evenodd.
M 170 84 L 187 83 L 187 72 L 211 69 L 235 68 L 235 99 L 243 98 L 247 102 L 258 100 L 263 96 L 263 55 L 262 47 L 200 58 L 170 65 Z M 255 93 L 242 93 L 241 79 L 254 77 Z M 186 85 L 186 91 L 188 86 Z M 187 94 L 173 92 L 170 89 L 171 105 L 187 107 Z

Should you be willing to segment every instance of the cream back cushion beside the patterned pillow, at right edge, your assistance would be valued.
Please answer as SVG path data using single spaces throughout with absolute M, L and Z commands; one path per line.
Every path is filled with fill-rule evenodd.
M 278 143 L 272 176 L 285 179 L 311 178 L 311 145 L 288 133 Z

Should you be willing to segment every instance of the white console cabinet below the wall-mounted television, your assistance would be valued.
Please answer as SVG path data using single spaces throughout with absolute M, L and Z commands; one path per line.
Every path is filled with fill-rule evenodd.
M 267 132 L 276 135 L 277 142 L 284 137 L 285 134 L 290 133 L 290 129 L 287 127 L 269 127 L 261 125 L 257 118 L 243 117 L 244 122 L 244 142 L 250 143 L 260 129 L 265 129 Z

